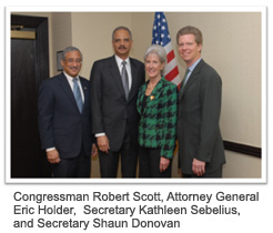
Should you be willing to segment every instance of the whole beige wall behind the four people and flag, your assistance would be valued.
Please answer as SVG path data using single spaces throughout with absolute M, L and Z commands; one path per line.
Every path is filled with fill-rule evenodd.
M 26 13 L 24 13 L 26 14 Z M 39 16 L 40 13 L 27 13 Z M 55 52 L 67 45 L 83 52 L 81 75 L 89 79 L 97 59 L 113 54 L 111 33 L 127 26 L 133 33 L 131 55 L 142 60 L 151 44 L 153 12 L 52 12 L 49 17 L 50 74 L 57 74 Z M 184 63 L 175 45 L 176 31 L 188 24 L 201 29 L 204 37 L 202 58 L 223 81 L 221 129 L 223 139 L 261 146 L 261 13 L 260 12 L 165 12 L 180 73 Z M 53 61 L 53 62 L 52 62 Z M 176 159 L 173 176 L 178 176 Z M 225 178 L 261 178 L 261 159 L 226 151 Z M 98 159 L 92 176 L 99 176 Z

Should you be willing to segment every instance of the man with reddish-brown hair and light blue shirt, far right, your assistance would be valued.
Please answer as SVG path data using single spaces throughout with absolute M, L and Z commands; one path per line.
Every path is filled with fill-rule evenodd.
M 219 120 L 222 81 L 201 58 L 202 33 L 194 27 L 176 34 L 186 73 L 179 93 L 178 140 L 183 178 L 222 178 L 225 163 Z

